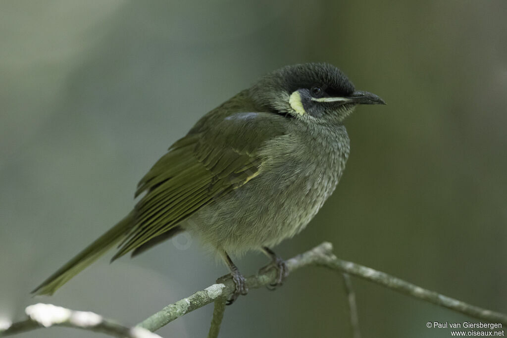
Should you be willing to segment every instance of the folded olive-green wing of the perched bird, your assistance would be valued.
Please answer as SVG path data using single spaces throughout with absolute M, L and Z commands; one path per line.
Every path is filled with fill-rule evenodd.
M 284 134 L 283 119 L 250 112 L 203 117 L 205 123 L 199 121 L 176 141 L 139 182 L 136 196 L 146 195 L 135 206 L 133 227 L 113 260 L 259 175 L 259 149 Z

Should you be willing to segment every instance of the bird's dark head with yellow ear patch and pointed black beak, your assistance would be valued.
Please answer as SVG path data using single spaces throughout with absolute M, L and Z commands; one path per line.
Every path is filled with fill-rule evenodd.
M 385 104 L 375 94 L 356 91 L 345 74 L 328 63 L 277 69 L 253 85 L 249 94 L 264 109 L 309 123 L 342 123 L 357 104 Z

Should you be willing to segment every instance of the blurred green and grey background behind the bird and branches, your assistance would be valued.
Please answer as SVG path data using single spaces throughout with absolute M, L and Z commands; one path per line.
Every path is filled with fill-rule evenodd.
M 0 319 L 46 302 L 135 324 L 227 272 L 197 240 L 29 291 L 133 206 L 137 181 L 211 108 L 285 64 L 327 61 L 387 106 L 346 122 L 335 194 L 276 251 L 344 259 L 507 312 L 507 2 L 3 1 Z M 254 273 L 266 258 L 237 265 Z M 353 279 L 364 337 L 469 320 Z M 158 332 L 206 335 L 212 307 Z M 222 337 L 351 336 L 343 283 L 309 268 L 227 308 Z M 69 328 L 23 337 L 104 336 Z

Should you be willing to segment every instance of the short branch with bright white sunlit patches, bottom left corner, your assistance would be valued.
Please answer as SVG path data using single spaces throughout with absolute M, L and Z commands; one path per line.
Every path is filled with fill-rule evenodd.
M 89 331 L 103 332 L 115 337 L 161 338 L 160 335 L 141 327 L 127 327 L 93 312 L 75 311 L 52 304 L 35 304 L 25 309 L 28 319 L 16 322 L 0 330 L 0 336 L 50 326 L 66 326 Z

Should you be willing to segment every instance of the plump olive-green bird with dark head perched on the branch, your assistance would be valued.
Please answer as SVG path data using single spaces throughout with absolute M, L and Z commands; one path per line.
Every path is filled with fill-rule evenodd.
M 355 90 L 329 63 L 288 65 L 209 111 L 139 181 L 132 211 L 32 293 L 53 294 L 106 251 L 111 261 L 188 231 L 230 270 L 232 304 L 248 288 L 231 256 L 264 252 L 301 232 L 334 192 L 350 153 L 344 120 L 359 104 L 385 104 Z

